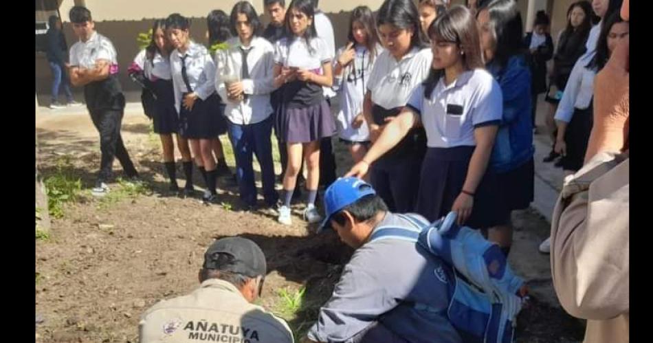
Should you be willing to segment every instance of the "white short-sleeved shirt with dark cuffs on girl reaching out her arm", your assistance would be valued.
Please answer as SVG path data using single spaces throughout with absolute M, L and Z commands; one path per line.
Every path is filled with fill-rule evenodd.
M 475 69 L 465 71 L 450 85 L 441 78 L 430 98 L 424 98 L 424 86 L 419 85 L 407 106 L 419 115 L 429 148 L 476 146 L 476 127 L 500 124 L 503 96 L 491 74 Z

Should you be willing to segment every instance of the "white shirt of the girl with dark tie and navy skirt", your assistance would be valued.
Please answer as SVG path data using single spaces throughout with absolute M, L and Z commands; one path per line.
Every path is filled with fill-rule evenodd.
M 184 78 L 181 77 L 181 57 L 184 55 L 188 55 L 186 58 L 186 75 L 192 91 L 197 93 L 201 100 L 206 100 L 215 92 L 215 65 L 206 47 L 191 41 L 185 54 L 181 54 L 178 49 L 173 50 L 170 53 L 170 73 L 175 88 L 175 108 L 177 112 L 181 110 L 182 95 L 188 91 Z

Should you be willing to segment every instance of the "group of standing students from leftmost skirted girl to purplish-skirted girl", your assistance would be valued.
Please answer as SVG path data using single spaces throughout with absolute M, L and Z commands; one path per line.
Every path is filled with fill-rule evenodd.
M 330 137 L 336 128 L 329 105 L 335 95 L 331 89 L 335 43 L 333 27 L 322 12 L 316 12 L 317 5 L 317 1 L 296 0 L 285 14 L 283 0 L 265 1 L 272 23 L 264 36 L 258 14 L 248 1 L 236 3 L 229 16 L 214 10 L 208 16 L 214 56 L 190 39 L 190 23 L 184 16 L 171 14 L 155 21 L 152 43 L 138 54 L 130 71 L 144 73 L 146 85 L 155 93 L 154 129 L 162 135 L 171 190 L 178 190 L 171 134 L 177 133 L 186 180 L 192 180 L 192 151 L 206 181 L 203 199 L 210 203 L 217 195 L 212 151 L 221 155 L 221 146 L 213 147 L 218 135 L 228 133 L 243 206 L 256 207 L 252 166 L 256 155 L 265 203 L 274 208 L 278 201 L 271 145 L 274 127 L 285 164 L 278 220 L 291 223 L 290 201 L 303 159 L 307 166 L 304 217 L 311 223 L 320 221 L 314 206 L 318 186 L 320 181 L 328 184 L 329 177 L 335 179 Z M 318 38 L 318 19 L 327 23 L 320 25 L 327 40 Z M 327 43 L 329 32 L 331 44 Z M 320 158 L 321 147 L 327 158 Z M 331 168 L 321 177 L 320 163 L 329 161 L 329 154 Z M 187 181 L 186 192 L 192 187 L 192 181 Z

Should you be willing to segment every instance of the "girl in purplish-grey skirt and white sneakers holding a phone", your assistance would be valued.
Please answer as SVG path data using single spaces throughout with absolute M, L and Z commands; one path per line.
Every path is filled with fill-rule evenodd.
M 278 217 L 285 225 L 291 224 L 290 200 L 302 155 L 308 169 L 304 217 L 309 223 L 320 221 L 315 208 L 320 180 L 320 140 L 331 137 L 336 130 L 322 89 L 333 85 L 333 52 L 316 34 L 314 10 L 312 0 L 293 0 L 286 12 L 287 36 L 274 47 L 274 86 L 283 86 L 276 125 L 288 150 L 283 206 Z

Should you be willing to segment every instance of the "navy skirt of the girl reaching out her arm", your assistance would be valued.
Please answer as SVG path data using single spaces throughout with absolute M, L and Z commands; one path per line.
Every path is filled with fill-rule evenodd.
M 423 159 L 417 213 L 435 221 L 451 211 L 454 201 L 463 190 L 467 168 L 474 146 L 428 148 Z M 465 225 L 470 228 L 490 228 L 501 224 L 502 211 L 498 206 L 498 182 L 491 170 L 486 170 L 474 194 L 472 215 Z

